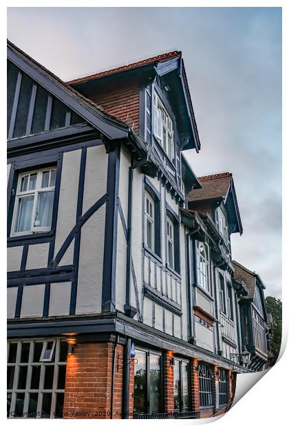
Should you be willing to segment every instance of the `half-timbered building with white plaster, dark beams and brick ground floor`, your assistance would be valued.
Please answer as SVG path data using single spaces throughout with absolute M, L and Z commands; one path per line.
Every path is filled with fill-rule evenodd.
M 181 52 L 65 83 L 8 42 L 7 117 L 8 416 L 226 411 L 249 371 L 242 224 L 232 176 L 184 158 L 200 139 Z

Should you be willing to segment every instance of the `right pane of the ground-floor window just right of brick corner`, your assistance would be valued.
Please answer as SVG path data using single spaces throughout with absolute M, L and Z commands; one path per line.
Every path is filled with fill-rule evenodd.
M 151 354 L 149 357 L 149 401 L 150 412 L 160 412 L 160 355 Z

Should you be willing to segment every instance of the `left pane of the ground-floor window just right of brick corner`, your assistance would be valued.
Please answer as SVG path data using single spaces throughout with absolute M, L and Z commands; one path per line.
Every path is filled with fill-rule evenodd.
M 146 412 L 146 354 L 142 350 L 136 350 L 138 363 L 134 373 L 133 410 L 137 413 Z

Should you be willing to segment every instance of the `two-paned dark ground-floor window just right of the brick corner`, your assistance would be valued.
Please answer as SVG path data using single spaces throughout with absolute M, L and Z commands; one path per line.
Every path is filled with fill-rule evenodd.
M 133 411 L 162 412 L 162 356 L 153 351 L 136 349 L 136 359 Z

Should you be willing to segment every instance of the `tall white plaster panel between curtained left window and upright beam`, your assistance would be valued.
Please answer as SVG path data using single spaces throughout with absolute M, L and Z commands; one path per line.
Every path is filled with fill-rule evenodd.
M 76 224 L 80 165 L 81 150 L 78 149 L 63 154 L 54 256 L 56 256 L 65 238 Z

